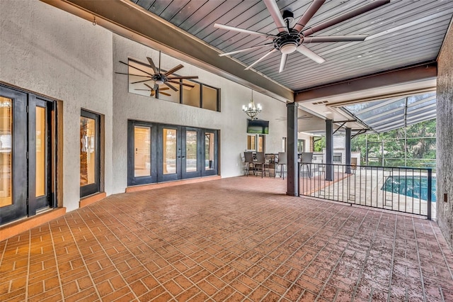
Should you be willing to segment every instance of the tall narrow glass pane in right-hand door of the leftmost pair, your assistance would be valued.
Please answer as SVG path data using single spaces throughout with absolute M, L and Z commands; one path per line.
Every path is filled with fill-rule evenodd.
M 36 196 L 45 195 L 45 108 L 36 107 Z

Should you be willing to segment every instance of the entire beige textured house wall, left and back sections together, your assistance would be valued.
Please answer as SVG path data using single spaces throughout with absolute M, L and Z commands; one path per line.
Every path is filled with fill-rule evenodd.
M 127 119 L 219 129 L 222 177 L 242 173 L 246 116 L 241 107 L 250 100 L 251 89 L 182 62 L 185 67 L 178 74 L 196 74 L 200 82 L 222 89 L 222 112 L 130 94 L 127 77 L 115 74 L 127 71 L 118 61 L 128 57 L 144 61 L 150 56 L 158 62 L 156 50 L 40 1 L 0 0 L 0 17 L 0 82 L 62 101 L 60 206 L 68 211 L 79 207 L 81 108 L 104 116 L 107 195 L 124 192 L 127 186 Z M 162 68 L 178 64 L 180 60 L 162 55 Z M 276 118 L 286 116 L 286 106 L 258 92 L 253 99 L 263 105 L 259 117 L 270 121 L 266 151 L 278 152 L 286 122 Z

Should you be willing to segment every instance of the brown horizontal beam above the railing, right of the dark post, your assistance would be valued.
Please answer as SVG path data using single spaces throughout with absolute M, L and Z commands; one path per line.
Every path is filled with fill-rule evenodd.
M 304 102 L 314 99 L 328 98 L 340 94 L 350 94 L 367 89 L 377 89 L 385 86 L 395 86 L 408 82 L 416 82 L 437 77 L 437 63 L 429 62 L 423 65 L 372 74 L 348 81 L 328 84 L 296 91 L 294 101 Z M 406 91 L 407 92 L 407 91 Z

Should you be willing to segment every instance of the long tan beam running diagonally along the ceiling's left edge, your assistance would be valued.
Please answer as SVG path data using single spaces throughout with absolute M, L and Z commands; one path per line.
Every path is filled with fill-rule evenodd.
M 113 33 L 193 64 L 280 101 L 294 101 L 294 91 L 251 70 L 238 60 L 219 57 L 219 50 L 185 33 L 162 18 L 145 11 L 130 0 L 41 0 L 47 4 L 96 23 Z

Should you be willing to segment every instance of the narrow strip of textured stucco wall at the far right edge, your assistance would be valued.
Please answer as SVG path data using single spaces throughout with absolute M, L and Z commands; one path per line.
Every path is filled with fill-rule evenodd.
M 437 222 L 453 249 L 453 30 L 437 61 Z M 447 194 L 447 202 L 444 202 Z

